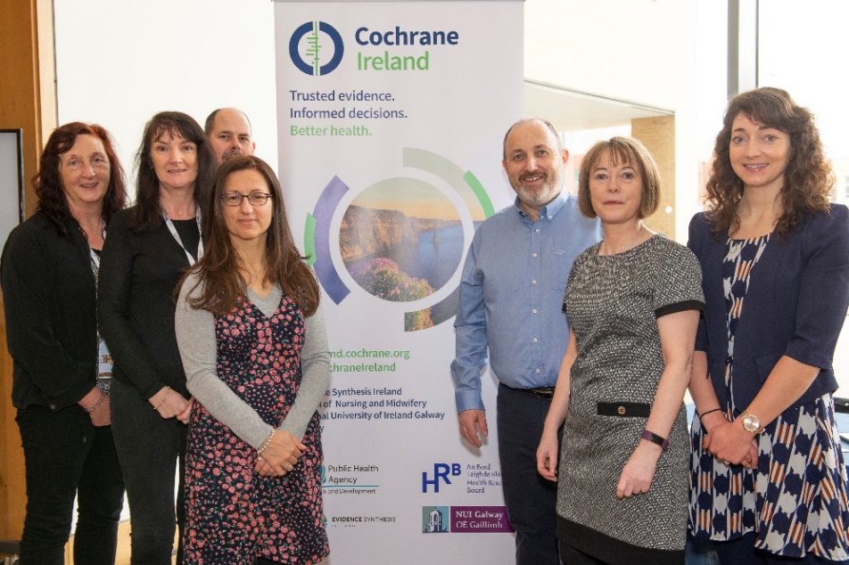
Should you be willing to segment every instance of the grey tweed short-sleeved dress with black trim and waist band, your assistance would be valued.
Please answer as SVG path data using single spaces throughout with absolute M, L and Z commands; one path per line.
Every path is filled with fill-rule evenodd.
M 557 479 L 557 535 L 608 563 L 683 563 L 687 418 L 681 405 L 647 494 L 616 498 L 664 372 L 657 318 L 701 309 L 701 269 L 655 235 L 631 250 L 575 259 L 564 311 L 578 340 Z M 612 413 L 612 414 L 611 414 Z

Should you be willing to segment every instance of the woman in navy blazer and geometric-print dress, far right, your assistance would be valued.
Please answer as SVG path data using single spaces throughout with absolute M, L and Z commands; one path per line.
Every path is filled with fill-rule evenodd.
M 849 214 L 809 111 L 739 94 L 714 147 L 711 211 L 690 222 L 704 272 L 690 391 L 689 530 L 723 563 L 849 559 L 832 356 L 849 304 Z

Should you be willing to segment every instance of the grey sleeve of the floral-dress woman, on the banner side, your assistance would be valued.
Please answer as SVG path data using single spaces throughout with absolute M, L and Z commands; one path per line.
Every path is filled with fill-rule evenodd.
M 303 438 L 312 414 L 315 414 L 318 403 L 330 386 L 330 353 L 327 350 L 327 332 L 321 307 L 304 321 L 301 373 L 301 388 L 279 428 L 291 432 L 298 439 Z

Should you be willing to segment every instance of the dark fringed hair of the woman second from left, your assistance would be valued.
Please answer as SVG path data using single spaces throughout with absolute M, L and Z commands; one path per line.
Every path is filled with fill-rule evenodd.
M 162 223 L 159 178 L 153 170 L 151 147 L 161 135 L 169 133 L 195 144 L 197 147 L 197 178 L 194 180 L 194 201 L 206 210 L 207 198 L 215 174 L 215 154 L 203 130 L 194 118 L 181 111 L 161 111 L 144 126 L 142 143 L 136 152 L 138 178 L 136 179 L 136 209 L 131 227 L 138 231 L 156 229 Z

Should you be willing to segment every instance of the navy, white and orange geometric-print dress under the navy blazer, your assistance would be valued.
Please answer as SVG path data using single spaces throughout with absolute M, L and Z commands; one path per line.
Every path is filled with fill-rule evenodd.
M 754 265 L 770 235 L 728 241 L 722 283 L 728 314 L 725 387 L 734 389 L 734 333 Z M 776 305 L 780 307 L 780 305 Z M 732 420 L 746 409 L 725 395 Z M 756 533 L 754 546 L 786 557 L 849 560 L 846 469 L 831 394 L 788 409 L 758 436 L 756 470 L 726 465 L 702 449 L 697 415 L 691 429 L 689 530 L 729 541 Z

